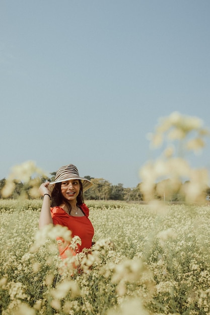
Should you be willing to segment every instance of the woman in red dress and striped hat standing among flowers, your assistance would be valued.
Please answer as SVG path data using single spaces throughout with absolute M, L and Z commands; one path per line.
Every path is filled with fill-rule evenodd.
M 61 258 L 66 258 L 69 253 L 76 255 L 92 246 L 94 228 L 83 198 L 83 192 L 91 186 L 89 180 L 80 177 L 76 166 L 69 164 L 58 169 L 54 182 L 45 182 L 39 188 L 43 196 L 39 227 L 60 224 L 72 231 L 72 238 L 78 236 L 81 239 L 81 244 L 78 243 L 74 250 L 59 239 L 62 241 L 58 247 Z

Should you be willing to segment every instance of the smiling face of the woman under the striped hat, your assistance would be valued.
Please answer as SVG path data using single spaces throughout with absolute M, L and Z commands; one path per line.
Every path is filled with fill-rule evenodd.
M 80 193 L 79 180 L 69 180 L 61 183 L 60 186 L 62 196 L 68 201 L 77 201 L 77 196 Z

